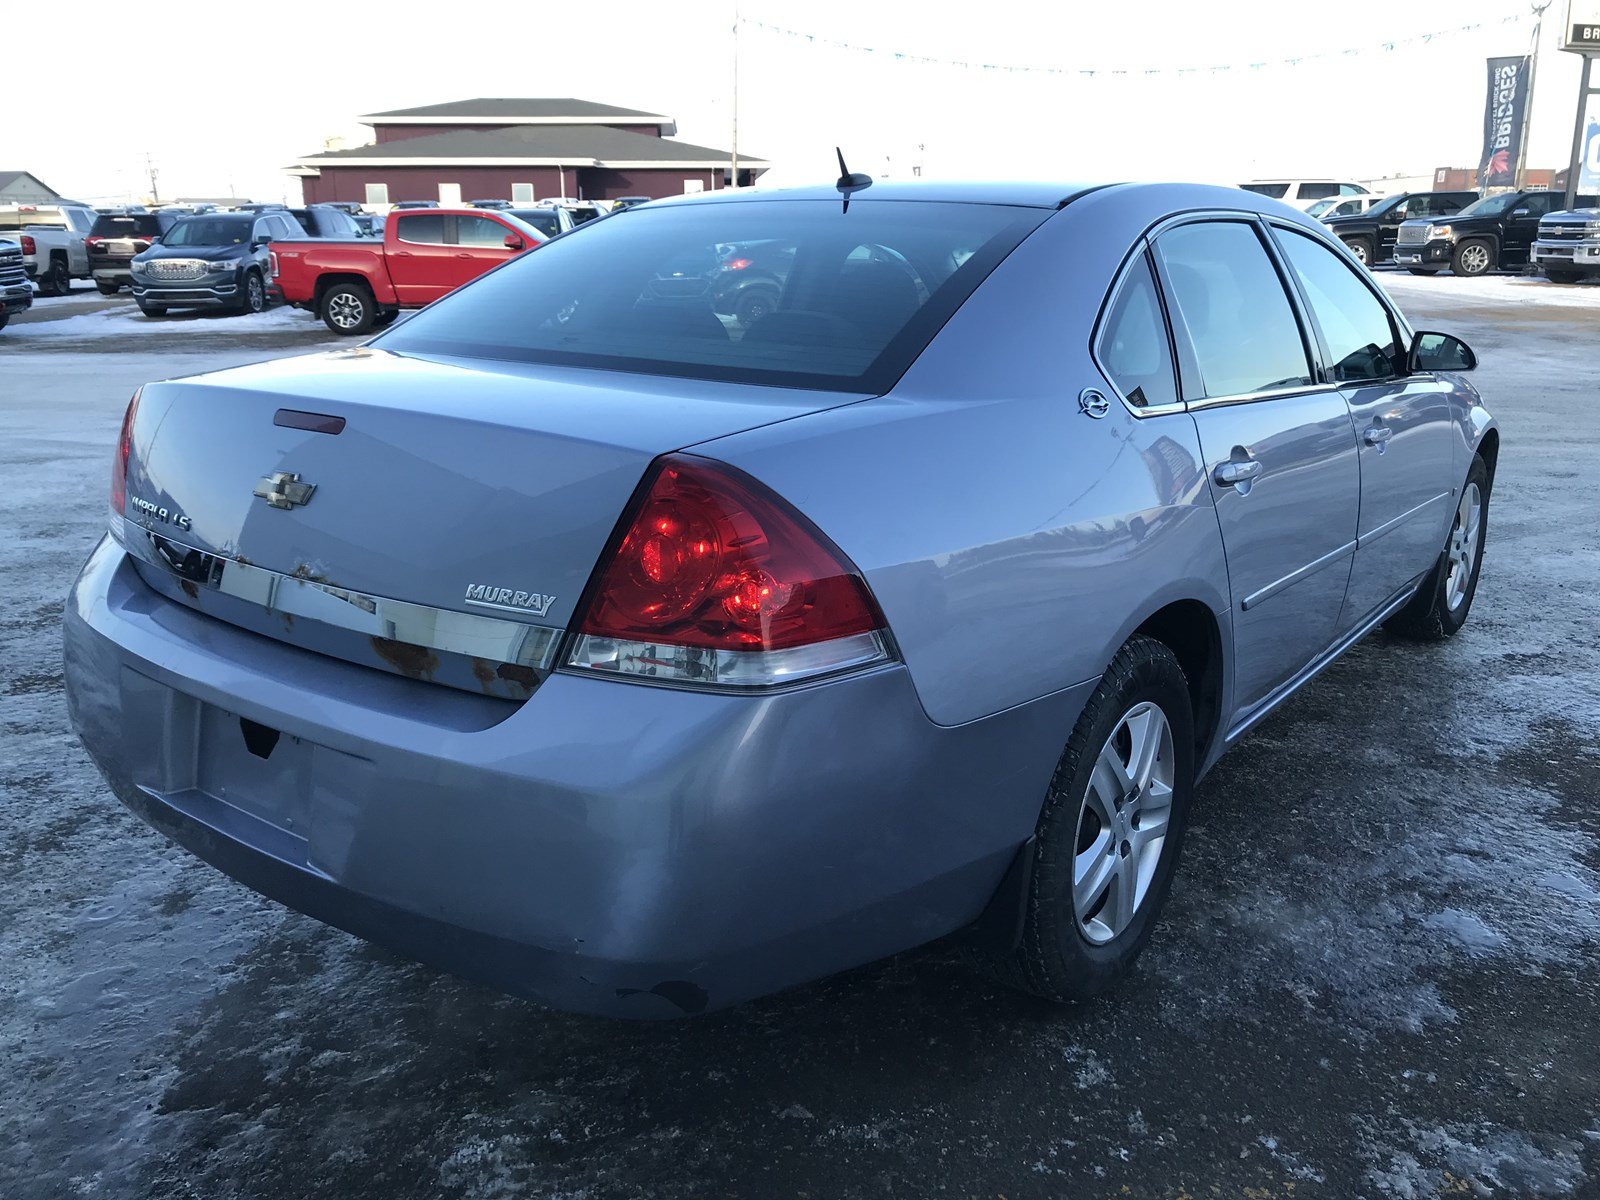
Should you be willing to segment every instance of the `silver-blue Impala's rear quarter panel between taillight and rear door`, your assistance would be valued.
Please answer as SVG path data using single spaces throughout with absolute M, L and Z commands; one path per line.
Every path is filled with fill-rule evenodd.
M 1101 301 L 1166 203 L 1112 200 L 1048 219 L 888 395 L 699 446 L 862 570 L 941 725 L 1099 677 L 1173 600 L 1203 602 L 1230 643 L 1194 419 L 1078 413 L 1106 387 L 1088 354 Z

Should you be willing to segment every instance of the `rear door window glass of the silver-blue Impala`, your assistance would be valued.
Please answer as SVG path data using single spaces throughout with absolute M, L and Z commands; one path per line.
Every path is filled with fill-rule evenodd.
M 1299 322 L 1254 226 L 1206 221 L 1157 242 L 1203 395 L 1245 395 L 1312 382 Z

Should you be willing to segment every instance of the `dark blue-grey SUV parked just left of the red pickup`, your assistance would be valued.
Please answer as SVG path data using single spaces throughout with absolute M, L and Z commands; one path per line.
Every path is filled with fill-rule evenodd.
M 179 221 L 133 259 L 133 298 L 146 317 L 168 309 L 267 307 L 267 246 L 306 237 L 288 210 L 206 213 Z

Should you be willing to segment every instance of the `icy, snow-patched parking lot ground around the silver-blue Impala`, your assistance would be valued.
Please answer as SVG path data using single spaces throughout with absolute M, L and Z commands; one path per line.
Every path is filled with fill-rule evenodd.
M 123 405 L 339 339 L 40 301 L 0 334 L 0 1198 L 1600 1194 L 1600 286 L 1382 280 L 1502 426 L 1462 635 L 1368 638 L 1222 760 L 1093 1006 L 933 946 L 674 1024 L 402 962 L 117 805 L 59 624 Z

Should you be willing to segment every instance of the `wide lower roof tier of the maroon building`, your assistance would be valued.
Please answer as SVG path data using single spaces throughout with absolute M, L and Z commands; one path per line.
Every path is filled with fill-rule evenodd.
M 322 150 L 296 166 L 699 166 L 728 165 L 728 150 L 608 125 L 530 125 L 446 130 L 347 150 Z M 741 166 L 766 166 L 739 155 Z

